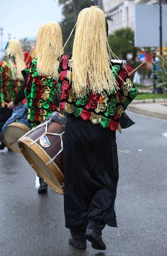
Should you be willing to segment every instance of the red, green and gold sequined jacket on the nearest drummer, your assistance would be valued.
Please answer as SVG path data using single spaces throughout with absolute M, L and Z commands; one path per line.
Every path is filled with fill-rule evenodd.
M 60 57 L 59 78 L 56 91 L 60 102 L 60 112 L 65 110 L 73 113 L 83 120 L 91 120 L 94 124 L 100 123 L 104 128 L 109 127 L 112 131 L 121 131 L 119 118 L 127 106 L 138 94 L 131 79 L 125 72 L 121 63 L 110 61 L 111 72 L 118 82 L 119 90 L 103 92 L 100 99 L 98 93 L 89 91 L 83 98 L 77 98 L 72 88 L 72 56 L 62 55 Z

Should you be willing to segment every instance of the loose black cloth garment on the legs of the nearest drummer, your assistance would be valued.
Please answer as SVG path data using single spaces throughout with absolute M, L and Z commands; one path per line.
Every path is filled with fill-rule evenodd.
M 67 114 L 63 139 L 66 227 L 84 229 L 89 220 L 117 227 L 115 197 L 118 155 L 115 131 Z

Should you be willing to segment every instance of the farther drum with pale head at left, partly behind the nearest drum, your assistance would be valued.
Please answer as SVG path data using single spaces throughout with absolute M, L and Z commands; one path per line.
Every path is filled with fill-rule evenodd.
M 5 145 L 12 151 L 21 153 L 18 145 L 18 139 L 29 131 L 30 127 L 22 122 L 12 122 L 2 134 Z

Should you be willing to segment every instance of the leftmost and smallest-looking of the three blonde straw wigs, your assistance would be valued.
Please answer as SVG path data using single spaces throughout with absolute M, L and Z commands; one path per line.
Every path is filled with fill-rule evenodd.
M 12 79 L 23 80 L 21 71 L 26 67 L 24 62 L 23 49 L 21 48 L 20 42 L 17 39 L 11 39 L 6 49 L 6 56 L 10 64 L 12 71 Z M 12 62 L 12 57 L 15 58 L 16 68 Z

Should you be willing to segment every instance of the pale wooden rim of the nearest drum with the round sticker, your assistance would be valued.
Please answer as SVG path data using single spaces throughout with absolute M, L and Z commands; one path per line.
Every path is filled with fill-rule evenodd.
M 23 136 L 18 140 L 19 145 L 23 144 L 26 146 L 29 146 L 31 143 L 33 143 L 34 140 L 30 139 L 29 137 Z M 46 153 L 46 151 L 43 150 L 42 147 L 40 147 L 40 145 L 38 145 L 37 143 L 34 143 L 33 145 L 31 145 L 29 147 L 38 157 L 39 155 L 36 153 L 37 151 L 41 151 L 41 153 L 43 154 L 43 157 L 41 157 L 41 161 L 43 161 L 43 163 L 46 165 L 46 163 L 48 163 L 51 158 L 49 157 L 49 155 Z M 32 168 L 35 170 L 35 172 L 42 178 L 45 179 L 45 177 L 43 176 L 43 172 L 40 171 L 39 167 L 33 163 L 32 158 L 29 156 L 29 154 L 27 153 L 26 149 L 24 148 L 24 146 L 22 146 L 22 148 L 20 148 L 23 156 L 26 158 L 26 160 L 28 161 L 28 163 L 33 164 Z M 62 177 L 61 181 L 60 179 L 55 175 L 55 178 L 58 180 L 58 183 L 60 183 L 60 185 L 63 186 L 63 179 L 64 179 L 64 175 L 63 173 L 60 171 L 60 169 L 58 168 L 58 166 L 55 164 L 55 162 L 53 161 L 50 165 L 47 165 L 47 167 L 50 169 L 50 171 L 52 171 L 53 175 L 55 175 L 54 169 L 56 167 L 56 169 L 58 170 L 57 173 L 59 173 L 59 177 Z M 51 181 L 46 180 L 46 184 L 48 184 L 54 191 L 56 191 L 58 194 L 63 195 L 63 188 L 60 186 L 56 186 L 54 183 L 52 183 Z M 54 188 L 53 188 L 53 185 Z

